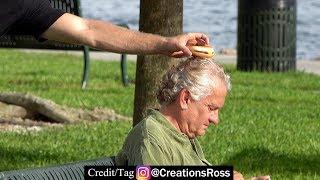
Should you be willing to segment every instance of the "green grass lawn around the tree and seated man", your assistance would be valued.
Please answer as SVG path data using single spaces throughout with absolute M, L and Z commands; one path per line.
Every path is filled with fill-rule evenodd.
M 120 63 L 91 61 L 81 90 L 82 58 L 0 50 L 0 91 L 29 92 L 71 107 L 133 114 L 134 85 L 123 87 Z M 246 178 L 320 179 L 320 76 L 238 72 L 220 124 L 200 138 L 207 159 L 231 164 Z M 134 81 L 135 64 L 128 63 Z M 0 171 L 115 155 L 131 122 L 98 122 L 37 133 L 0 132 Z

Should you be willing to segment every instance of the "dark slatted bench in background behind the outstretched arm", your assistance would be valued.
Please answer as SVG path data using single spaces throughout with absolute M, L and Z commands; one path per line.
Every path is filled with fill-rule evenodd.
M 81 6 L 79 0 L 49 0 L 53 8 L 61 9 L 65 12 L 82 16 Z M 127 27 L 127 25 L 122 25 Z M 84 54 L 84 67 L 82 75 L 82 88 L 84 89 L 89 77 L 89 47 L 82 45 L 73 45 L 60 43 L 56 41 L 38 42 L 33 36 L 28 34 L 7 34 L 0 37 L 0 47 L 3 48 L 26 48 L 26 49 L 55 49 L 55 50 L 81 50 Z M 95 49 L 91 49 L 95 50 Z M 122 82 L 128 85 L 127 71 L 126 71 L 126 54 L 121 55 L 121 75 Z

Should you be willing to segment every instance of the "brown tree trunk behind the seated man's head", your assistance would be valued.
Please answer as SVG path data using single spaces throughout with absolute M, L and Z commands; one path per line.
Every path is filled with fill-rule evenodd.
M 140 0 L 140 31 L 174 36 L 183 32 L 183 0 Z M 160 55 L 138 56 L 133 126 L 148 108 L 159 108 L 156 92 L 163 73 L 176 60 Z

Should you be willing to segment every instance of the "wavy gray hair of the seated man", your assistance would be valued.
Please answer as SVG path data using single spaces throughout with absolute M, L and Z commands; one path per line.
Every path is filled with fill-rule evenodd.
M 199 101 L 216 88 L 217 78 L 224 82 L 230 91 L 230 76 L 213 59 L 182 60 L 162 77 L 157 99 L 161 105 L 167 105 L 176 100 L 182 89 L 187 89 L 192 99 Z

